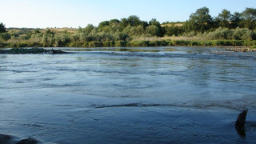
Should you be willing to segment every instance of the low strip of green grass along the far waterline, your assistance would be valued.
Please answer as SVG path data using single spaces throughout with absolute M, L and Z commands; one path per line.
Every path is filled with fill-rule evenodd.
M 57 47 L 40 42 L 2 42 L 0 47 Z M 246 46 L 256 48 L 256 41 L 243 40 L 141 40 L 141 41 L 106 41 L 106 42 L 67 42 L 58 47 L 119 47 L 119 46 Z

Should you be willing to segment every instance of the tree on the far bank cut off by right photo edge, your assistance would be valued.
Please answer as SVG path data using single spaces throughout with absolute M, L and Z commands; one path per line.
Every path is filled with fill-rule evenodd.
M 256 26 L 256 9 L 246 8 L 246 10 L 242 12 L 242 19 L 244 27 L 254 30 Z

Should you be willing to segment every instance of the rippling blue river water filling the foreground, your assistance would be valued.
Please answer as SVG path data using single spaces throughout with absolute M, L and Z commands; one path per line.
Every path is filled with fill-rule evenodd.
M 254 143 L 256 53 L 58 48 L 0 55 L 0 134 L 54 143 Z M 249 109 L 246 136 L 234 128 Z

